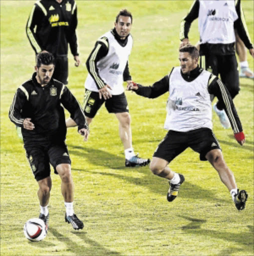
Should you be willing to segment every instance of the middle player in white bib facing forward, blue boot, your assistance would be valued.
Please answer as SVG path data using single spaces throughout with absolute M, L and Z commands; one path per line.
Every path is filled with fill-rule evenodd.
M 88 124 L 104 102 L 107 111 L 115 113 L 127 167 L 143 166 L 150 162 L 149 159 L 138 157 L 132 148 L 130 115 L 122 85 L 123 81 L 131 82 L 128 70 L 128 56 L 132 48 L 131 25 L 132 15 L 123 9 L 116 16 L 114 28 L 96 41 L 86 61 L 88 75 L 84 83 L 82 106 Z M 76 124 L 69 118 L 66 125 L 71 127 Z

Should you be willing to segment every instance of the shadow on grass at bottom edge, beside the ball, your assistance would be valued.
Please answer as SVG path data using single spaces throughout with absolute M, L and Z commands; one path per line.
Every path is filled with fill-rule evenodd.
M 111 255 L 118 255 L 120 256 L 120 253 L 117 251 L 109 250 L 105 247 L 103 247 L 98 242 L 88 238 L 87 232 L 85 231 L 71 231 L 74 235 L 77 235 L 79 238 L 81 238 L 84 242 L 75 242 L 74 240 L 71 240 L 69 237 L 64 236 L 63 234 L 59 233 L 55 228 L 50 227 L 48 229 L 59 241 L 64 242 L 66 244 L 66 250 L 73 253 L 74 255 L 105 255 L 105 256 L 111 256 Z

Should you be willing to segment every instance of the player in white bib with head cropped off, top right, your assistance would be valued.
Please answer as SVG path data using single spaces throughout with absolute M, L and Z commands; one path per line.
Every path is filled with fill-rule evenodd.
M 200 34 L 200 66 L 216 76 L 220 74 L 231 98 L 234 98 L 240 90 L 234 28 L 249 49 L 251 56 L 254 57 L 253 45 L 246 30 L 240 0 L 195 0 L 181 22 L 180 45 L 189 43 L 189 28 L 196 18 L 198 18 Z M 223 102 L 218 100 L 213 105 L 213 109 L 222 126 L 229 128 L 230 122 L 223 109 Z

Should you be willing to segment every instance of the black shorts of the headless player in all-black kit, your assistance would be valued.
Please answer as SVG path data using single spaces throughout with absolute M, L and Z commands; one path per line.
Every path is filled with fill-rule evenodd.
M 63 84 L 68 83 L 68 58 L 67 56 L 54 57 L 55 67 L 53 72 L 53 78 L 62 82 Z

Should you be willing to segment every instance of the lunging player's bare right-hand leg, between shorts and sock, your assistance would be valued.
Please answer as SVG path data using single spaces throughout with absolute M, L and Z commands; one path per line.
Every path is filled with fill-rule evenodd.
M 211 165 L 217 170 L 221 181 L 230 191 L 236 189 L 236 183 L 234 175 L 231 170 L 227 167 L 223 155 L 219 149 L 212 149 L 206 155 L 205 158 L 211 163 Z

